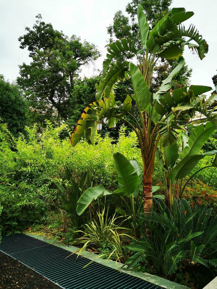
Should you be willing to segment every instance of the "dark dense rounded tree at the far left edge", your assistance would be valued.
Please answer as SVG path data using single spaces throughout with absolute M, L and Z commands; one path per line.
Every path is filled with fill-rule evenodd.
M 27 125 L 28 107 L 20 88 L 0 75 L 0 119 L 10 132 L 17 135 Z

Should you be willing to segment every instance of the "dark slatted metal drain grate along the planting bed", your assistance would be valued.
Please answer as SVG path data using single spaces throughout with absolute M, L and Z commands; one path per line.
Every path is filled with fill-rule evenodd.
M 0 250 L 62 288 L 159 289 L 161 287 L 25 234 L 3 237 Z

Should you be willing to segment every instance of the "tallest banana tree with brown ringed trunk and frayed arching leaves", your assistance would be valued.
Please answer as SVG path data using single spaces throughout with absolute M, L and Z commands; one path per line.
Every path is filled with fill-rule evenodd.
M 144 211 L 149 213 L 152 206 L 152 174 L 159 140 L 161 139 L 163 146 L 176 141 L 177 130 L 183 129 L 181 125 L 185 124 L 196 111 L 206 110 L 205 97 L 200 95 L 210 91 L 211 87 L 192 85 L 189 88 L 185 86 L 172 92 L 169 91 L 172 87 L 172 78 L 184 65 L 183 47 L 187 45 L 190 50 L 199 55 L 200 59 L 203 59 L 208 52 L 208 44 L 195 27 L 190 25 L 186 29 L 182 25 L 183 21 L 192 17 L 193 12 L 186 12 L 184 8 L 173 8 L 171 14 L 166 14 L 150 32 L 141 5 L 138 5 L 137 14 L 141 50 L 137 50 L 130 39 L 117 40 L 110 44 L 107 58 L 103 62 L 105 78 L 96 90 L 97 102 L 93 102 L 84 109 L 71 135 L 71 144 L 75 146 L 83 134 L 89 144 L 94 144 L 97 123 L 104 118 L 109 120 L 109 128 L 120 120 L 131 127 L 141 147 Z M 191 40 L 194 43 L 190 42 Z M 134 53 L 136 64 L 112 62 L 113 58 L 124 51 Z M 151 77 L 154 67 L 161 58 L 179 58 L 179 62 L 177 67 L 162 81 L 159 90 L 151 97 L 149 91 Z M 126 78 L 131 78 L 134 94 L 131 97 L 127 95 L 123 104 L 117 105 L 115 88 L 119 81 Z M 130 114 L 132 98 L 136 101 L 138 115 Z M 205 112 L 217 125 L 213 113 Z M 125 119 L 126 115 L 131 116 L 136 123 L 135 126 Z

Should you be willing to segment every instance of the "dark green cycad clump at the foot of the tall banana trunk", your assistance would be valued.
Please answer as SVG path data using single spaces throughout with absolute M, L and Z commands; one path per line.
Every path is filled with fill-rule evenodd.
M 171 212 L 162 200 L 156 203 L 158 212 L 141 215 L 150 237 L 143 233 L 127 246 L 135 252 L 126 262 L 128 269 L 142 261 L 167 277 L 179 265 L 217 267 L 217 219 L 211 219 L 212 209 L 198 204 L 192 209 L 185 199 L 175 199 Z

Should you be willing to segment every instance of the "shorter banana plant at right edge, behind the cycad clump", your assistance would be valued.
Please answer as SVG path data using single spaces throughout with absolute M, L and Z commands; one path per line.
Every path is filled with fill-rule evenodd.
M 176 189 L 177 198 L 182 198 L 185 187 L 199 171 L 217 166 L 217 150 L 201 153 L 203 145 L 215 130 L 216 127 L 209 121 L 205 126 L 202 123 L 196 127 L 190 137 L 182 131 L 177 142 L 166 147 L 159 146 L 156 155 L 164 176 L 165 201 L 170 209 L 174 203 Z M 198 162 L 207 155 L 216 155 L 212 164 L 192 173 Z M 187 175 L 189 178 L 183 181 Z

